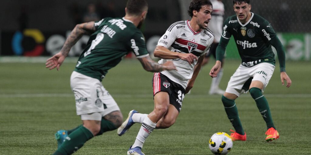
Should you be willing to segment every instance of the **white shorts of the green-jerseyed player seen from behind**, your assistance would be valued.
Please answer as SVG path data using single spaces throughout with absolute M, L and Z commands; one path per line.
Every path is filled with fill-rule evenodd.
M 81 115 L 82 120 L 100 121 L 101 117 L 120 110 L 118 104 L 96 78 L 73 71 L 70 86 L 76 99 L 77 115 Z M 92 113 L 100 113 L 101 117 Z

